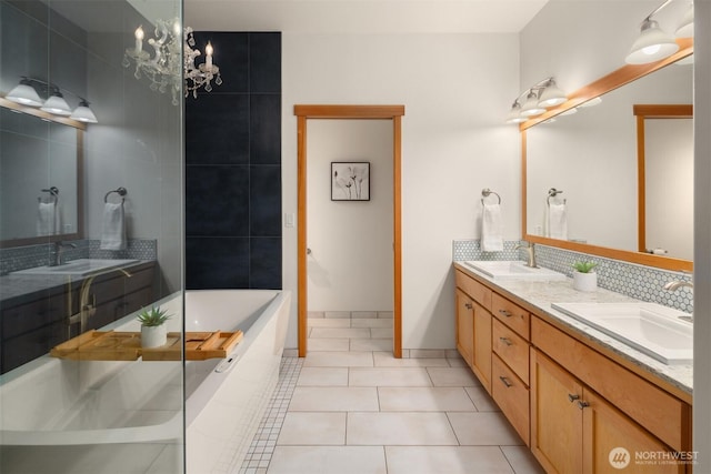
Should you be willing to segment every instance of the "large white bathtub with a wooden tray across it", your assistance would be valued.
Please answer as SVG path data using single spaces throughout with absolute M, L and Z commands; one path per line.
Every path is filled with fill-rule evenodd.
M 0 472 L 173 474 L 183 448 L 188 473 L 239 468 L 279 377 L 290 299 L 288 291 L 186 292 L 186 331 L 240 329 L 244 337 L 228 357 L 184 370 L 182 362 L 43 356 L 3 374 Z M 183 314 L 180 294 L 157 304 Z M 170 320 L 169 331 L 180 331 L 181 320 Z M 102 330 L 139 324 L 129 315 Z

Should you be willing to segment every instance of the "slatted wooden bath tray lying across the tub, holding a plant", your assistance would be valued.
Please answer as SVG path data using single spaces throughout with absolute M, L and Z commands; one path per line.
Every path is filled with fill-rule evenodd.
M 227 357 L 242 340 L 242 331 L 187 332 L 186 360 L 204 361 Z M 141 347 L 140 332 L 88 331 L 59 344 L 50 355 L 72 361 L 180 361 L 181 333 L 168 333 L 168 343 L 160 347 Z

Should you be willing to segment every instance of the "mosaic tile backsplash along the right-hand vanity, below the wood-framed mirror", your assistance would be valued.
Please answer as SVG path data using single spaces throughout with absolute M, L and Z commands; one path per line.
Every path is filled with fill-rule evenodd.
M 479 240 L 455 240 L 452 242 L 452 260 L 525 260 L 524 251 L 514 250 L 520 241 L 504 242 L 502 252 L 483 252 Z M 598 263 L 598 285 L 617 293 L 663 304 L 688 313 L 693 312 L 693 290 L 681 288 L 664 290 L 664 284 L 681 280 L 691 282 L 692 274 L 644 266 L 620 260 L 604 259 L 547 245 L 535 245 L 535 259 L 540 266 L 555 270 L 572 278 L 572 264 L 581 260 Z

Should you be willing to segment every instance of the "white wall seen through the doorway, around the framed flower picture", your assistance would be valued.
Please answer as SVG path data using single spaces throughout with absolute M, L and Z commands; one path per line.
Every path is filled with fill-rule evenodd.
M 309 311 L 392 311 L 392 121 L 309 120 L 307 137 Z M 370 162 L 370 201 L 331 201 L 333 161 Z

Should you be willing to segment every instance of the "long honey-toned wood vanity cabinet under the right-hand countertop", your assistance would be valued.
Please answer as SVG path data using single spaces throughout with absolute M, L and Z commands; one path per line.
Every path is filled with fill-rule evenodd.
M 524 303 L 514 303 L 459 269 L 455 278 L 458 349 L 548 473 L 691 472 L 684 463 L 649 457 L 635 462 L 637 453 L 691 452 L 692 409 L 673 395 L 673 389 L 662 389 L 633 365 L 583 343 L 554 326 L 548 315 L 530 313 Z M 481 305 L 473 294 L 487 294 L 490 301 L 489 311 L 481 309 L 490 321 L 482 330 L 489 331 L 491 351 L 484 377 L 475 364 Z M 629 453 L 624 470 L 611 464 L 614 448 Z

